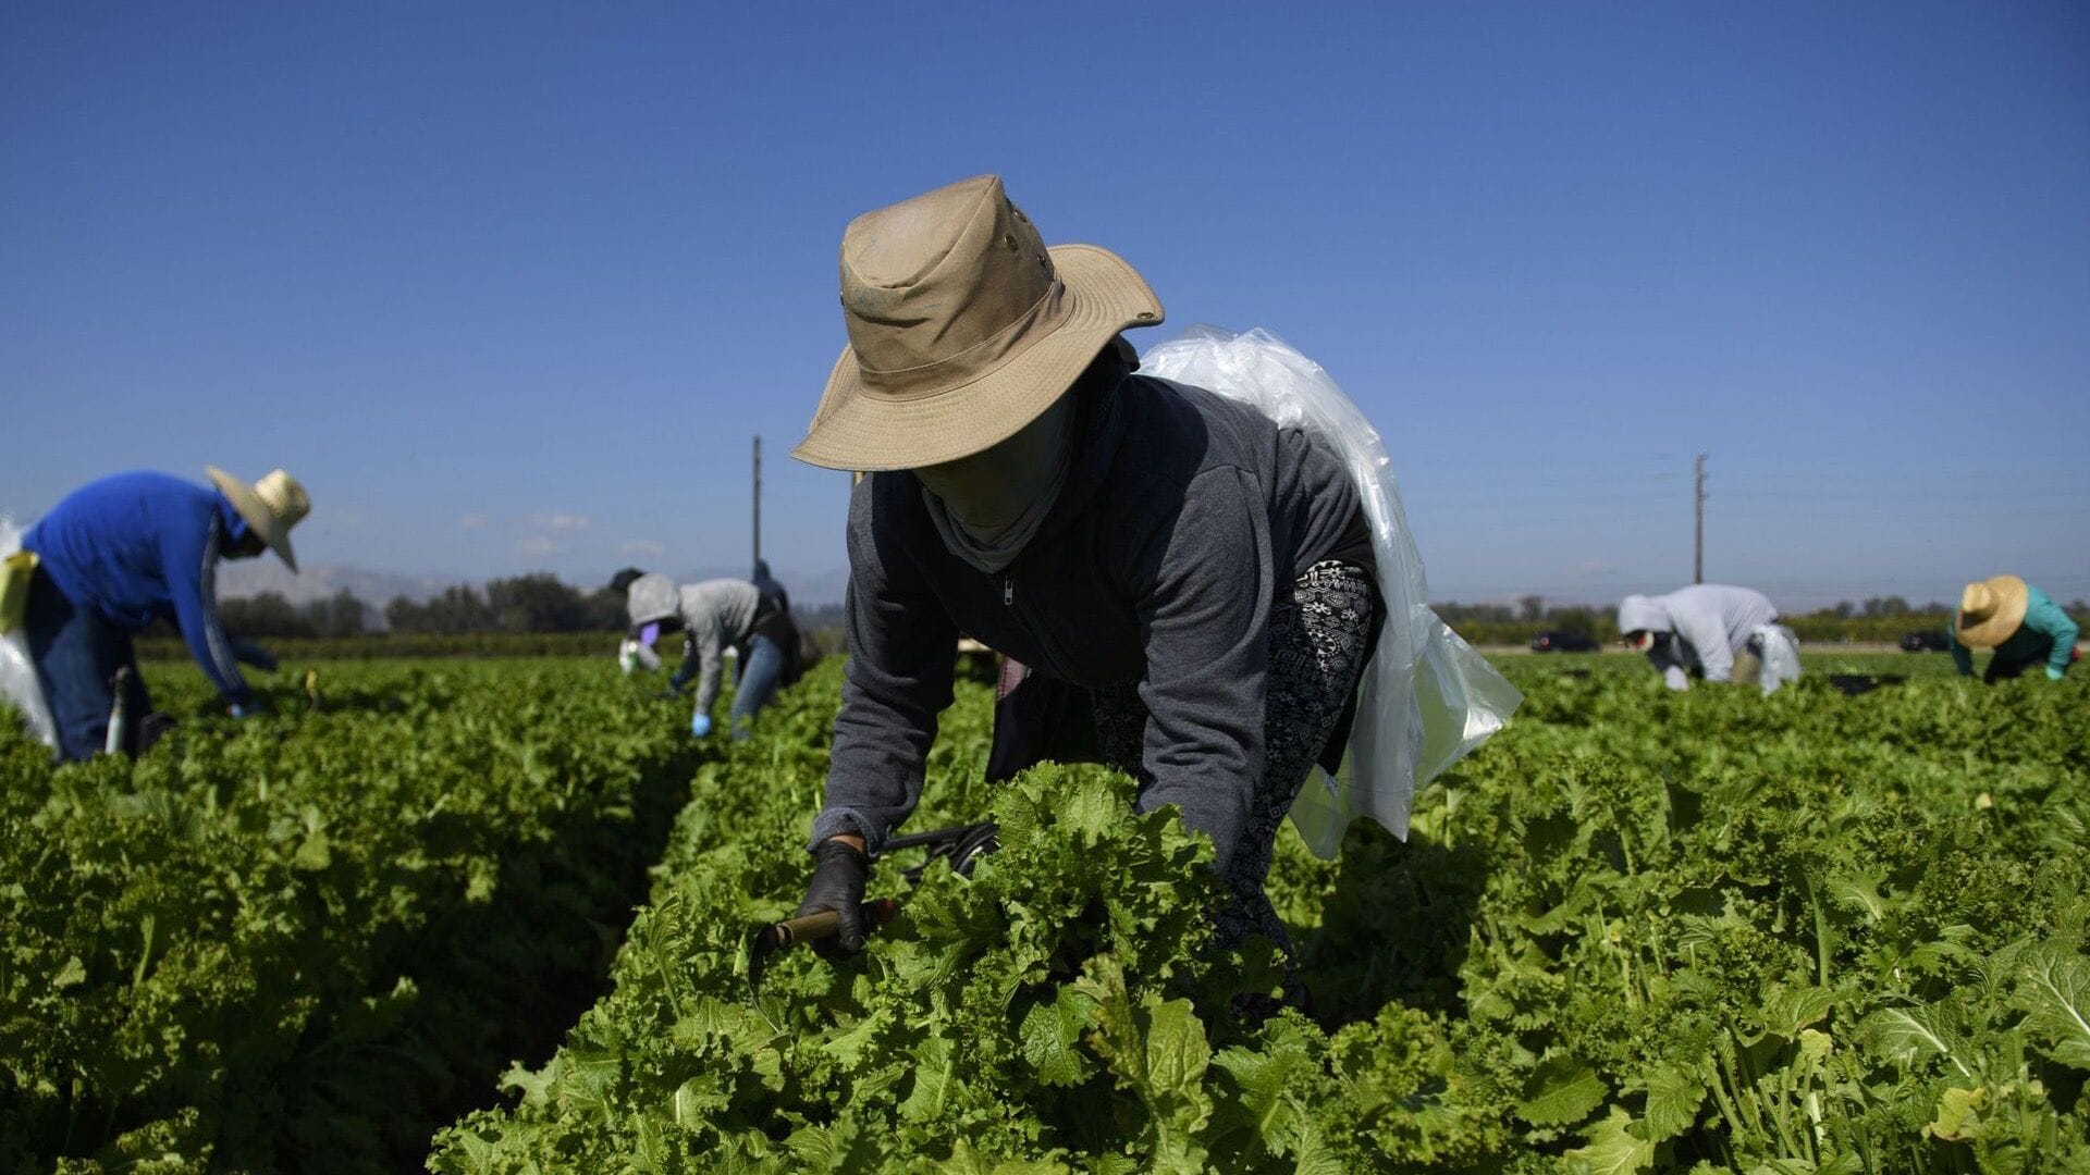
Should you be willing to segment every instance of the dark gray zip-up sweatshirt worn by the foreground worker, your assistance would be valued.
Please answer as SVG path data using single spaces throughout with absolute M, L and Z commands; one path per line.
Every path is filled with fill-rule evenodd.
M 1139 807 L 1181 805 L 1225 870 L 1264 763 L 1271 613 L 1323 558 L 1369 565 L 1356 487 L 1298 429 L 1097 364 L 1070 391 L 1066 483 L 1001 573 L 953 554 L 911 473 L 849 506 L 849 669 L 813 845 L 907 820 L 970 633 L 1074 686 L 1137 686 Z

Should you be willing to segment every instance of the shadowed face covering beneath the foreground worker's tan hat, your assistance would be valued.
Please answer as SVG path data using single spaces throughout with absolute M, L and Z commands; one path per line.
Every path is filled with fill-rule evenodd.
M 943 546 L 989 575 L 1016 562 L 1066 485 L 1072 424 L 1074 397 L 1062 395 L 999 445 L 913 470 Z

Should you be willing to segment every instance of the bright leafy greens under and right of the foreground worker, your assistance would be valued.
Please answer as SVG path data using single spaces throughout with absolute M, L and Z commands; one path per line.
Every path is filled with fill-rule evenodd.
M 508 1171 L 2080 1171 L 2090 746 L 2075 682 L 1668 694 L 1620 661 L 1419 797 L 1409 843 L 1290 834 L 1310 1014 L 1237 1014 L 1204 845 L 1129 780 L 976 780 L 945 715 L 915 826 L 1001 822 L 869 951 L 752 991 L 805 878 L 834 677 L 706 763 L 652 903 L 516 1104 L 437 1139 Z M 955 732 L 955 738 L 951 734 Z

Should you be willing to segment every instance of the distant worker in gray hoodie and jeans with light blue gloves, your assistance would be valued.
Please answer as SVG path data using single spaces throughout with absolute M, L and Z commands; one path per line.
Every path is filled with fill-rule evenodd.
M 740 671 L 727 721 L 734 738 L 746 738 L 754 713 L 777 686 L 788 684 L 796 661 L 796 633 L 782 602 L 746 579 L 704 579 L 677 588 L 667 575 L 627 569 L 610 581 L 612 590 L 619 585 L 631 619 L 627 650 L 635 646 L 650 652 L 663 636 L 677 629 L 683 633 L 681 669 L 669 679 L 669 688 L 679 694 L 696 679 L 696 713 L 690 715 L 690 734 L 696 738 L 711 734 L 711 707 L 719 700 L 725 650 L 736 650 Z

